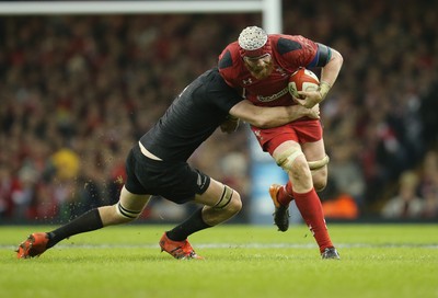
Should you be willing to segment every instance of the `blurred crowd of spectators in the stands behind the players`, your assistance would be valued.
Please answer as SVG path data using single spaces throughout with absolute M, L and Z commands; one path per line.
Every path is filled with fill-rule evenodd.
M 283 33 L 344 56 L 322 105 L 327 220 L 438 221 L 438 2 L 281 7 Z M 60 224 L 117 202 L 130 147 L 249 25 L 262 14 L 0 14 L 0 224 Z M 233 222 L 272 225 L 267 188 L 255 190 L 285 176 L 253 150 L 243 125 L 189 162 L 241 193 Z M 193 208 L 154 197 L 139 221 Z

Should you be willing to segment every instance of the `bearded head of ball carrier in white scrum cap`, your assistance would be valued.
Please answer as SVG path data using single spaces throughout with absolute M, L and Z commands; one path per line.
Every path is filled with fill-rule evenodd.
M 266 32 L 257 26 L 245 27 L 239 35 L 240 55 L 256 79 L 267 78 L 273 69 L 270 44 Z

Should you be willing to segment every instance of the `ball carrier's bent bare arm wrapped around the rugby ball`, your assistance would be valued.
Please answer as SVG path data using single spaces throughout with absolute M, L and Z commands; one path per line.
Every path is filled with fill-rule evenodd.
M 298 100 L 298 102 L 306 107 L 312 107 L 322 102 L 335 83 L 343 62 L 344 58 L 339 51 L 325 45 L 318 44 L 316 55 L 307 67 L 321 68 L 320 88 L 318 91 L 299 91 L 298 94 L 302 100 Z

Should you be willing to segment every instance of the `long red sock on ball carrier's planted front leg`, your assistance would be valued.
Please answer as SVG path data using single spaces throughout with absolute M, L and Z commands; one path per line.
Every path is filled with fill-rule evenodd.
M 304 194 L 293 193 L 293 197 L 297 208 L 320 247 L 320 251 L 323 252 L 326 248 L 332 248 L 333 243 L 325 225 L 321 200 L 315 190 L 312 188 Z

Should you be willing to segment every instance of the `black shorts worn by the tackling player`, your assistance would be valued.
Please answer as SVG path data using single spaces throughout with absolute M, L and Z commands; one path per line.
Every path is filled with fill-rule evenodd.
M 132 194 L 160 195 L 176 204 L 183 204 L 204 194 L 210 177 L 187 162 L 158 161 L 145 157 L 138 144 L 126 159 L 125 187 Z

